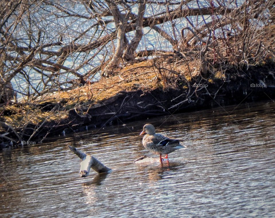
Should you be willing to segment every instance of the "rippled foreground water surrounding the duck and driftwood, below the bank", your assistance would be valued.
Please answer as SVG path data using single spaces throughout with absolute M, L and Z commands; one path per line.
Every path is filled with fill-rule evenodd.
M 0 217 L 274 217 L 274 106 L 158 117 L 2 150 Z M 169 154 L 169 165 L 134 164 L 158 158 L 140 144 L 145 123 L 188 148 Z M 112 172 L 80 178 L 68 145 Z

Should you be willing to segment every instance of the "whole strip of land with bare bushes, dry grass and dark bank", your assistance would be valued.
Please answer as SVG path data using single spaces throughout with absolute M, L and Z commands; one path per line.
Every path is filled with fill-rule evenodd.
M 274 99 L 272 1 L 76 5 L 80 12 L 48 2 L 38 13 L 24 11 L 23 3 L 5 5 L 1 147 Z M 24 17 L 32 13 L 33 19 Z

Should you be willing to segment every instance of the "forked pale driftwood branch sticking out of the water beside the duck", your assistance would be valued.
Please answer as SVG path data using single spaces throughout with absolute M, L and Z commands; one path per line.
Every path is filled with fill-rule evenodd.
M 79 171 L 81 177 L 87 177 L 89 175 L 90 168 L 95 170 L 97 173 L 108 172 L 111 170 L 90 154 L 86 154 L 86 152 L 82 152 L 74 146 L 69 145 L 68 148 L 81 159 Z

